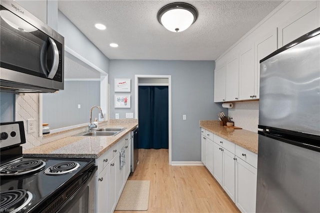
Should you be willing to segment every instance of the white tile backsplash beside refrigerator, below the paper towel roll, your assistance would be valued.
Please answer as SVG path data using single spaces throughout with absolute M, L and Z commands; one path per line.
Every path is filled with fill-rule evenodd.
M 259 101 L 233 102 L 233 107 L 228 109 L 228 116 L 232 117 L 234 125 L 243 129 L 257 132 L 259 120 Z

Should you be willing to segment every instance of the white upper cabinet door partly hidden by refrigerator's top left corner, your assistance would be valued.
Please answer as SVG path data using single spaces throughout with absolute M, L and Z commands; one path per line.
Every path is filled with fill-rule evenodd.
M 260 82 L 260 60 L 269 55 L 277 48 L 277 28 L 269 33 L 260 36 L 254 42 L 255 52 L 255 71 L 254 71 L 254 98 L 259 98 L 259 82 Z

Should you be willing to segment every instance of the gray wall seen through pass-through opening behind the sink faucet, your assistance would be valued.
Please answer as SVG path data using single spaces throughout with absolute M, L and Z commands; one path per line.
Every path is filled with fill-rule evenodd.
M 64 81 L 64 90 L 43 94 L 43 123 L 50 129 L 88 123 L 91 106 L 100 105 L 99 91 L 100 81 Z M 93 121 L 94 117 L 97 109 L 92 111 Z

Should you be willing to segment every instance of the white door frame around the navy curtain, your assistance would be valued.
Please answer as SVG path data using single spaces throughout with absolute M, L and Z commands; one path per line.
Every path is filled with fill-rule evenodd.
M 134 103 L 135 103 L 135 118 L 139 118 L 139 85 L 140 86 L 167 86 L 167 103 L 168 103 L 168 157 L 171 165 L 171 137 L 172 137 L 172 121 L 171 121 L 171 75 L 135 75 Z

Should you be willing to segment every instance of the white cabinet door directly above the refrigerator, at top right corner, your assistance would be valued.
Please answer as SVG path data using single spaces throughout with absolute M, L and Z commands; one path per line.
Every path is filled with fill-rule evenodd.
M 279 47 L 320 26 L 317 4 L 319 2 L 309 1 L 309 4 L 278 27 Z

